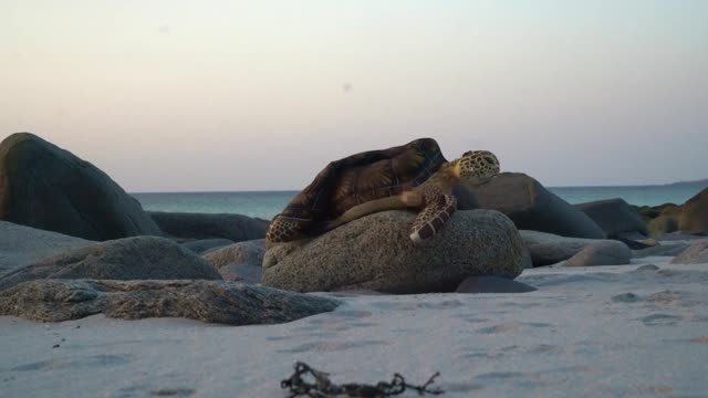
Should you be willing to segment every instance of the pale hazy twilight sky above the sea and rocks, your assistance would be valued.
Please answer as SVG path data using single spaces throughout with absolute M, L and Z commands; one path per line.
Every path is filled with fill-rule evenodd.
M 708 177 L 704 0 L 0 0 L 0 139 L 126 190 L 299 190 L 433 137 L 546 186 Z

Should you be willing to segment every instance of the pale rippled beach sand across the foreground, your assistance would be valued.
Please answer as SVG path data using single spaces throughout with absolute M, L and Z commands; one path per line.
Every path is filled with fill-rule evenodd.
M 271 326 L 0 317 L 0 396 L 284 397 L 303 360 L 336 383 L 439 370 L 444 397 L 706 397 L 708 264 L 669 261 L 525 270 L 523 294 L 339 294 Z

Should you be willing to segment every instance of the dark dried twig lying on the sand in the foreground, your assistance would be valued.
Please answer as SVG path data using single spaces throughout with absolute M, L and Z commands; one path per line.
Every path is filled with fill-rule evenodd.
M 281 388 L 288 388 L 289 398 L 311 397 L 311 398 L 329 398 L 329 397 L 357 397 L 357 398 L 378 398 L 393 397 L 403 394 L 407 389 L 415 390 L 418 395 L 440 395 L 444 391 L 439 388 L 429 389 L 435 383 L 435 378 L 440 374 L 436 373 L 428 381 L 421 386 L 413 386 L 406 383 L 406 379 L 399 374 L 395 374 L 394 378 L 387 381 L 378 381 L 375 386 L 348 383 L 337 386 L 330 381 L 329 374 L 311 368 L 305 363 L 295 363 L 295 373 L 290 378 L 280 383 Z M 309 380 L 305 380 L 308 378 Z

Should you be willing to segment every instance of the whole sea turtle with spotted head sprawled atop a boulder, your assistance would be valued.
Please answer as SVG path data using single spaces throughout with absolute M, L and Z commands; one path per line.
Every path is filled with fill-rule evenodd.
M 433 237 L 457 210 L 452 189 L 461 180 L 479 184 L 499 174 L 487 150 L 447 161 L 433 138 L 371 150 L 330 163 L 270 224 L 269 245 L 315 237 L 364 216 L 418 210 L 410 228 L 415 243 Z

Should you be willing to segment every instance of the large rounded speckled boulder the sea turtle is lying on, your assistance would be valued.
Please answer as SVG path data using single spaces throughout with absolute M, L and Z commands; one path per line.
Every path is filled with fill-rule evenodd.
M 513 279 L 530 259 L 511 220 L 491 210 L 457 211 L 430 240 L 408 238 L 415 213 L 363 217 L 306 243 L 266 252 L 263 285 L 284 290 L 452 292 L 467 276 Z

